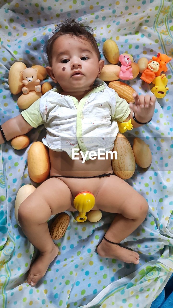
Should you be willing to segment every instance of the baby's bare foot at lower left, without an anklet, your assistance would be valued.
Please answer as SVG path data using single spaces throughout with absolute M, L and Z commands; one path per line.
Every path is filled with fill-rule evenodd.
M 28 277 L 26 280 L 29 285 L 32 287 L 35 286 L 36 283 L 45 275 L 49 264 L 55 259 L 58 251 L 59 249 L 55 245 L 51 252 L 40 253 L 37 260 L 33 262 L 29 269 Z

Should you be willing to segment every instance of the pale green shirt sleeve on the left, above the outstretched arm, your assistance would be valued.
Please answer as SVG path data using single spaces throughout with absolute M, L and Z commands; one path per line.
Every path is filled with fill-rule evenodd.
M 37 128 L 39 125 L 44 124 L 40 114 L 40 98 L 37 99 L 29 108 L 21 111 L 22 117 L 28 122 L 29 125 Z

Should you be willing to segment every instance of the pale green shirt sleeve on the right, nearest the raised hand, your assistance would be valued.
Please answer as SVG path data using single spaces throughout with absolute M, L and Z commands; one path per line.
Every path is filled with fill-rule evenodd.
M 128 115 L 130 114 L 131 109 L 128 102 L 125 99 L 121 98 L 116 92 L 115 98 L 116 109 L 115 114 L 112 116 L 112 119 L 117 120 L 118 122 L 124 122 L 124 120 L 127 119 Z

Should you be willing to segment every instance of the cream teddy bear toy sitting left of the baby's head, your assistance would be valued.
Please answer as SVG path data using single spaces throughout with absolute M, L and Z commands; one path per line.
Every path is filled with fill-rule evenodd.
M 37 79 L 37 73 L 37 68 L 32 67 L 28 67 L 21 71 L 23 75 L 22 83 L 24 84 L 22 92 L 24 94 L 28 94 L 29 91 L 41 92 L 40 80 Z

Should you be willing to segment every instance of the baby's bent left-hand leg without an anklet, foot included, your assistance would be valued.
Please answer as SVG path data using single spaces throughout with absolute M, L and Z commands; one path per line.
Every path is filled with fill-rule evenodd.
M 73 210 L 72 194 L 67 185 L 57 178 L 42 183 L 20 205 L 18 220 L 28 240 L 40 251 L 40 255 L 31 265 L 27 283 L 35 286 L 45 275 L 50 263 L 58 254 L 47 221 L 51 215 L 65 210 Z

